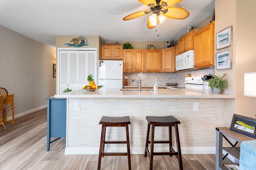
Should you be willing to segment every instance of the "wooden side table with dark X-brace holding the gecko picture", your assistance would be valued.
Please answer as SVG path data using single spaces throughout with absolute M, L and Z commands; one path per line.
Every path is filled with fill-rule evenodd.
M 236 143 L 233 145 L 227 138 L 230 137 L 236 141 Z M 228 141 L 228 143 L 232 147 L 223 147 L 223 137 Z M 256 140 L 255 138 L 248 137 L 246 135 L 243 135 L 241 133 L 231 131 L 229 127 L 216 127 L 216 170 L 228 170 L 226 166 L 222 164 L 222 160 L 226 158 L 227 154 L 222 158 L 222 150 L 225 150 L 228 154 L 232 155 L 234 158 L 239 160 L 240 156 L 240 147 L 236 147 L 236 144 L 242 143 L 243 141 L 251 141 Z

